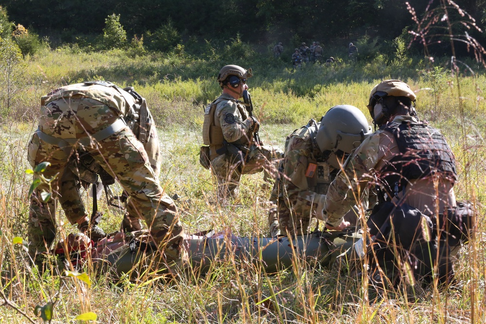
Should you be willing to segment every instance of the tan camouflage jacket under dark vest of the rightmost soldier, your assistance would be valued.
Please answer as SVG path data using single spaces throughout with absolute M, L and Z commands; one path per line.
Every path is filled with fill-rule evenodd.
M 401 123 L 402 121 L 418 122 L 415 117 L 411 116 L 397 116 L 393 119 L 393 122 Z M 385 141 L 386 145 L 383 145 Z M 379 129 L 366 138 L 349 156 L 343 166 L 343 171 L 340 171 L 330 184 L 326 195 L 323 213 L 327 215 L 330 224 L 339 225 L 342 222 L 341 216 L 351 206 L 355 205 L 358 199 L 363 200 L 367 198 L 367 190 L 365 188 L 368 183 L 375 183 L 376 177 L 380 177 L 380 170 L 386 163 L 385 160 L 388 160 L 390 156 L 400 154 L 398 149 L 395 150 L 395 153 L 392 152 L 393 146 L 396 147 L 396 143 L 394 142 L 393 135 L 384 129 Z M 412 187 L 413 181 L 410 187 Z M 434 197 L 429 197 L 429 195 L 424 194 L 430 191 L 427 188 L 427 184 L 420 188 L 419 185 L 422 185 L 420 182 L 423 182 L 423 180 L 418 179 L 417 182 L 419 184 L 414 187 L 414 190 L 409 190 L 410 192 L 404 193 L 404 202 L 420 209 L 423 206 L 419 205 L 433 205 Z M 439 192 L 439 196 L 443 195 L 445 197 L 443 200 L 451 204 L 453 200 L 453 183 L 449 183 L 450 181 L 447 179 L 439 179 L 439 182 L 443 185 L 443 189 L 442 187 L 439 189 L 443 193 Z M 414 191 L 419 192 L 414 193 Z M 427 202 L 423 203 L 425 200 Z

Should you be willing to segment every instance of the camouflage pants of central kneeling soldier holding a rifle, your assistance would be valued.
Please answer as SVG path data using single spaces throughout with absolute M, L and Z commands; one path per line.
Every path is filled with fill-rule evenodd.
M 283 152 L 272 146 L 256 146 L 250 148 L 245 163 L 233 163 L 226 155 L 219 155 L 211 161 L 211 170 L 217 178 L 219 197 L 237 197 L 242 174 L 253 174 L 263 171 L 263 180 L 274 179 L 277 165 Z

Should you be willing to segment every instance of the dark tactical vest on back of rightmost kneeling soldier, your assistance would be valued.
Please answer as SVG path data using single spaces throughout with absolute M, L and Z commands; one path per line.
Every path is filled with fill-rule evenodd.
M 437 172 L 457 180 L 455 158 L 446 139 L 425 122 L 392 122 L 381 129 L 393 134 L 401 154 L 380 171 L 388 193 L 405 188 L 409 180 L 423 179 Z M 393 195 L 392 195 L 393 196 Z

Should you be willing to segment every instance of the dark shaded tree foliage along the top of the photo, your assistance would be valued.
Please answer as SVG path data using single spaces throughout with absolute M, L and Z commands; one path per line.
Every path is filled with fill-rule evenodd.
M 393 40 L 413 25 L 406 0 L 0 0 L 16 23 L 42 35 L 103 33 L 105 18 L 120 15 L 128 35 L 156 34 L 170 24 L 183 40 L 227 39 L 272 44 L 278 40 L 333 42 L 363 35 Z M 443 0 L 408 0 L 417 16 Z M 456 0 L 479 27 L 486 0 Z M 485 34 L 477 34 L 482 41 Z M 159 37 L 160 38 L 160 37 Z M 171 36 L 174 38 L 174 35 Z M 170 42 L 169 42 L 170 43 Z M 293 46 L 292 44 L 289 44 Z

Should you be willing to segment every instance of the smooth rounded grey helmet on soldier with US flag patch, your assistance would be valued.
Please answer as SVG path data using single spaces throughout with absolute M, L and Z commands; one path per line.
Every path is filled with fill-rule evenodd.
M 371 133 L 371 126 L 361 110 L 342 104 L 330 108 L 321 118 L 315 140 L 321 152 L 331 152 L 330 165 L 340 169 L 344 155 L 360 146 Z

